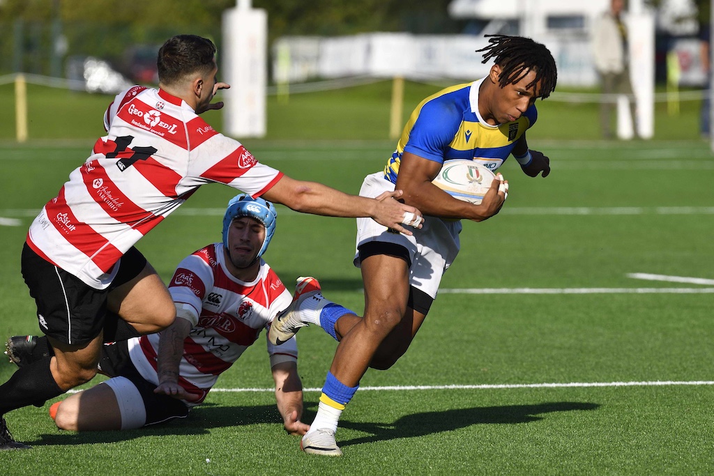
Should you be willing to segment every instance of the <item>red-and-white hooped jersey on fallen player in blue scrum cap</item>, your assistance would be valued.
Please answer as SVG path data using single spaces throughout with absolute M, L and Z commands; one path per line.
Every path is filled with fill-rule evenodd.
M 292 296 L 278 275 L 261 260 L 258 276 L 251 283 L 233 277 L 226 269 L 223 243 L 213 243 L 184 258 L 169 284 L 179 318 L 193 325 L 183 341 L 183 357 L 178 368 L 178 384 L 189 393 L 201 395 L 198 405 L 216 383 L 218 375 L 238 360 L 244 350 L 273 318 L 290 305 Z M 282 345 L 268 340 L 271 367 L 295 362 L 295 338 Z M 156 355 L 159 334 L 129 340 L 129 355 L 141 376 L 159 385 Z

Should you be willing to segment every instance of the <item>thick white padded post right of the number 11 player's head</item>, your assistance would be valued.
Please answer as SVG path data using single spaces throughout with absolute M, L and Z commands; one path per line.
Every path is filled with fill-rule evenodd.
M 238 0 L 223 12 L 222 64 L 218 78 L 231 85 L 224 89 L 223 129 L 233 137 L 266 135 L 268 14 L 251 8 L 251 0 Z

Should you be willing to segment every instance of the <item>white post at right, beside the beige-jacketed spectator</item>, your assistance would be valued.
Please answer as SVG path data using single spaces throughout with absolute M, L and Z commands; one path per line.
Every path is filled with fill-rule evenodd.
M 630 54 L 630 83 L 637 106 L 638 136 L 655 135 L 655 17 L 641 8 L 641 2 L 630 4 L 628 16 L 628 44 Z M 618 101 L 618 136 L 631 137 L 633 126 L 626 101 Z

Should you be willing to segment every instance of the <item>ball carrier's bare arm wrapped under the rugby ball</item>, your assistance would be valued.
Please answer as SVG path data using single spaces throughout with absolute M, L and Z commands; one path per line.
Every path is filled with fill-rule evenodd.
M 416 206 L 425 215 L 438 216 L 451 220 L 462 218 L 484 221 L 501 210 L 506 200 L 508 181 L 499 173 L 491 189 L 483 197 L 480 205 L 456 200 L 448 193 L 435 186 L 433 181 L 441 170 L 442 164 L 405 152 L 399 164 L 396 187 L 404 191 L 404 201 Z

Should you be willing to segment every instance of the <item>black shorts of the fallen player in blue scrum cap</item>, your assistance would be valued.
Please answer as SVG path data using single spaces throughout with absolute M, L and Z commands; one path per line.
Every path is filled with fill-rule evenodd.
M 144 380 L 139 370 L 134 367 L 134 363 L 131 363 L 129 347 L 126 342 L 126 340 L 121 340 L 102 346 L 101 359 L 99 360 L 101 373 L 109 377 L 127 378 L 134 384 L 136 390 L 139 390 L 146 409 L 145 426 L 174 420 L 174 418 L 185 418 L 190 408 L 174 397 L 154 393 L 156 385 Z

